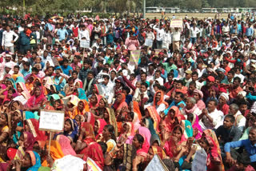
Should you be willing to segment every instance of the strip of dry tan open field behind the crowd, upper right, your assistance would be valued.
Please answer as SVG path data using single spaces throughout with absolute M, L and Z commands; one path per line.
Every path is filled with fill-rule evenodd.
M 198 18 L 198 19 L 204 19 L 204 18 L 214 18 L 216 13 L 175 13 L 174 15 L 176 18 L 185 18 L 185 16 L 188 16 L 188 18 Z M 220 14 L 219 18 L 227 18 L 227 13 Z M 169 18 L 172 18 L 173 14 L 171 13 L 166 13 L 166 16 Z M 161 13 L 146 13 L 146 18 L 153 19 L 154 17 L 156 18 L 161 18 Z

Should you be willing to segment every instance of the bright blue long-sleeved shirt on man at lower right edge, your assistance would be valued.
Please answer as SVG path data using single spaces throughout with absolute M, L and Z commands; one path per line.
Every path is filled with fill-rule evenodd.
M 231 148 L 244 147 L 246 152 L 250 155 L 250 162 L 256 161 L 256 144 L 252 145 L 249 139 L 241 141 L 227 142 L 224 146 L 225 152 L 230 153 Z

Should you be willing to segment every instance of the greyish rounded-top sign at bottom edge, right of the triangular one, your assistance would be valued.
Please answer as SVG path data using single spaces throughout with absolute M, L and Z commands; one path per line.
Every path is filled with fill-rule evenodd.
M 197 150 L 192 161 L 192 171 L 206 171 L 206 159 L 206 151 L 204 149 Z

